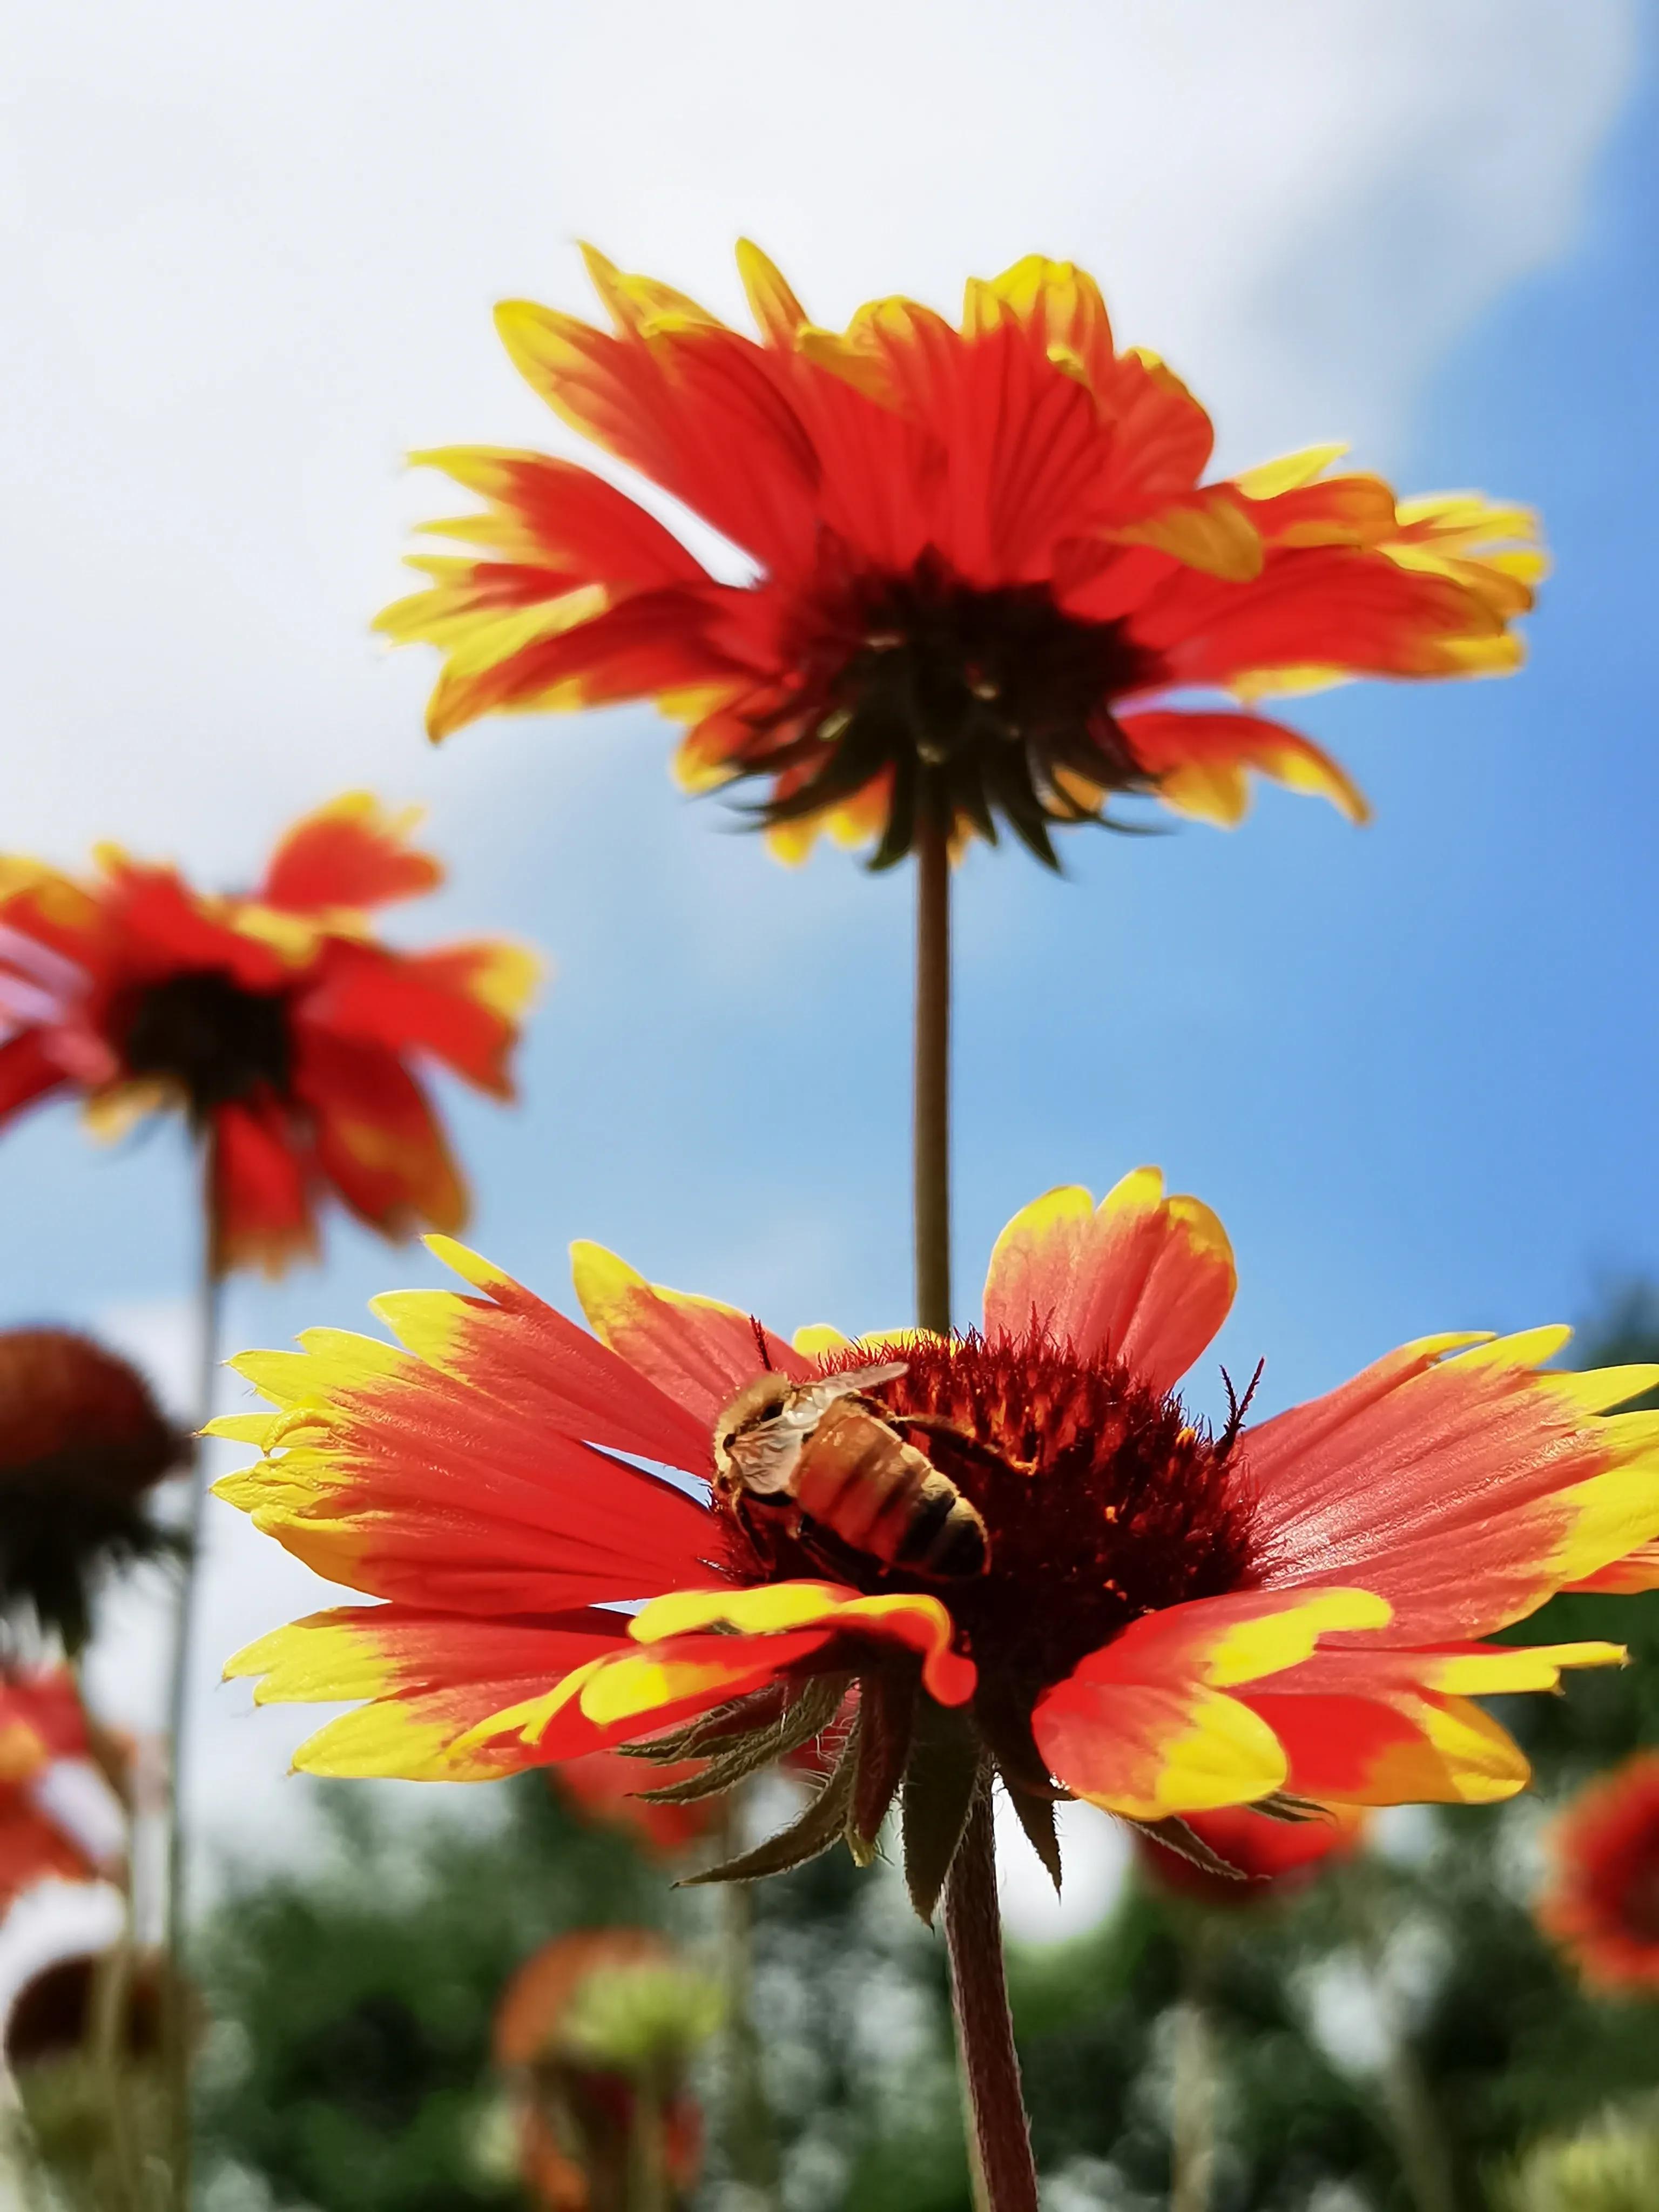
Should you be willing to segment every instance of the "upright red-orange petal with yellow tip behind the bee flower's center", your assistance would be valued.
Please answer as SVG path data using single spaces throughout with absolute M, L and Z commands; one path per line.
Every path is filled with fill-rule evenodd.
M 1164 1197 L 1137 1168 L 1099 1208 L 1077 1186 L 1035 1199 L 995 1241 L 984 1327 L 1037 1327 L 1079 1358 L 1126 1360 L 1155 1391 L 1175 1389 L 1232 1307 L 1232 1245 L 1208 1206 Z

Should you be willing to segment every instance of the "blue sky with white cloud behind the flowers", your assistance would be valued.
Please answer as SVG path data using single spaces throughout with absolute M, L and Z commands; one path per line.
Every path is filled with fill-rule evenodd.
M 914 13 L 920 24 L 927 9 Z M 1057 7 L 1055 40 L 1084 53 L 1099 38 L 1104 71 L 1113 35 L 1141 40 L 1133 13 Z M 1228 77 L 1261 62 L 1265 84 L 1276 51 L 1135 44 L 1144 86 L 1175 102 L 1170 128 L 1190 131 L 1161 206 L 1144 188 L 1150 142 L 1139 168 L 1113 170 L 1113 197 L 1082 166 L 1044 170 L 1044 135 L 1029 126 L 1031 161 L 1002 195 L 1024 226 L 1013 250 L 1044 243 L 1091 261 L 1113 303 L 1135 310 L 1121 307 L 1121 334 L 1164 345 L 1214 403 L 1228 462 L 1354 425 L 1356 458 L 1407 491 L 1478 484 L 1537 504 L 1555 575 L 1515 679 L 1296 703 L 1292 719 L 1374 799 L 1365 832 L 1265 790 L 1232 836 L 1199 825 L 1071 836 L 1064 883 L 1022 854 L 971 856 L 958 878 L 964 1316 L 1015 1206 L 1055 1181 L 1099 1190 L 1144 1159 L 1206 1197 L 1234 1237 L 1241 1296 L 1219 1349 L 1245 1369 L 1265 1354 L 1263 1407 L 1329 1387 L 1407 1336 L 1571 1318 L 1597 1281 L 1659 1274 L 1644 989 L 1659 920 L 1644 650 L 1659 582 L 1659 88 L 1650 11 L 1588 9 L 1577 44 L 1562 42 L 1562 18 L 1471 0 L 1444 46 L 1433 7 L 1402 4 L 1387 33 L 1363 9 L 1329 9 L 1318 22 L 1329 44 L 1310 46 L 1314 18 L 1287 0 L 1259 24 L 1285 66 L 1310 71 L 1307 102 L 1323 106 L 1305 102 L 1305 128 L 1292 117 L 1279 146 L 1228 119 Z M 389 119 L 376 137 L 369 117 L 367 150 L 352 155 L 365 204 L 385 186 L 398 250 L 385 248 L 383 265 L 363 230 L 341 270 L 327 232 L 336 215 L 347 232 L 358 219 L 338 181 L 358 139 L 332 126 L 332 91 L 316 95 L 314 237 L 274 246 L 299 221 L 283 197 L 299 186 L 279 161 L 299 66 L 290 82 L 274 58 L 276 88 L 261 93 L 263 111 L 252 102 L 246 139 L 226 155 L 221 208 L 201 181 L 217 144 L 201 115 L 263 58 L 192 51 L 153 108 L 142 86 L 117 82 L 119 55 L 102 82 L 82 82 L 64 40 L 42 33 L 40 84 L 64 115 L 100 119 L 117 181 L 122 133 L 139 146 L 139 124 L 133 175 L 181 168 L 153 181 L 153 206 L 135 199 L 119 232 L 71 197 L 51 268 L 29 263 L 44 321 L 18 341 L 13 367 L 46 557 L 18 564 L 20 830 L 62 860 L 113 834 L 234 880 L 288 814 L 330 790 L 372 781 L 392 799 L 427 796 L 453 887 L 398 929 L 418 940 L 509 929 L 557 967 L 524 1051 L 522 1110 L 447 1093 L 478 1183 L 471 1241 L 555 1298 L 566 1241 L 597 1237 L 659 1279 L 783 1325 L 900 1321 L 905 876 L 867 878 L 838 852 L 779 869 L 719 801 L 675 794 L 670 737 L 644 710 L 484 726 L 431 757 L 418 734 L 429 666 L 389 659 L 363 626 L 396 588 L 405 520 L 442 511 L 431 484 L 396 476 L 398 449 L 544 436 L 484 312 L 495 290 L 580 303 L 573 257 L 542 232 L 557 243 L 593 228 L 717 303 L 726 279 L 706 272 L 741 226 L 792 270 L 805 261 L 807 279 L 821 270 L 821 312 L 880 283 L 949 301 L 969 268 L 1006 259 L 998 177 L 949 219 L 911 177 L 889 228 L 920 274 L 878 268 L 860 281 L 834 206 L 796 184 L 757 192 L 752 173 L 719 170 L 717 150 L 708 179 L 668 212 L 661 192 L 617 173 L 597 221 L 557 179 L 544 206 L 518 204 L 515 173 L 518 228 L 502 234 L 511 195 L 487 208 L 478 177 L 445 166 L 469 150 L 487 177 L 507 159 L 473 113 L 467 148 L 456 126 L 438 153 L 440 186 L 460 197 L 442 230 L 438 190 L 403 153 L 420 139 L 416 108 L 436 97 L 431 64 L 449 35 L 436 11 L 420 20 L 425 71 L 387 62 Z M 1208 24 L 1217 49 L 1237 27 L 1197 4 L 1166 20 Z M 1513 33 L 1502 51 L 1462 35 L 1475 20 L 1491 38 Z M 319 49 L 345 35 L 323 13 L 296 22 Z M 1004 64 L 998 35 L 975 15 L 967 62 L 951 66 L 989 84 Z M 347 88 L 380 66 L 369 49 L 365 35 L 363 51 L 330 55 Z M 493 66 L 504 91 L 507 60 Z M 148 124 L 175 102 L 208 135 L 157 150 L 166 135 Z M 1230 146 L 1254 146 L 1256 166 Z M 878 153 L 872 168 L 845 223 L 887 252 Z M 1248 241 L 1225 228 L 1234 201 L 1252 210 Z M 991 250 L 969 237 L 980 212 Z M 692 226 L 701 259 L 688 268 L 675 254 L 690 259 Z M 248 250 L 257 285 L 239 292 Z M 133 254 L 150 257 L 155 283 L 133 276 Z M 1194 283 L 1172 268 L 1194 270 Z M 1206 272 L 1208 319 L 1190 296 Z M 338 312 L 347 274 L 367 299 L 354 314 Z M 131 336 L 115 380 L 97 345 L 75 352 L 97 330 L 88 296 L 111 299 Z M 259 299 L 274 303 L 279 336 L 259 334 Z M 365 314 L 380 316 L 378 338 Z M 55 1110 L 0 1141 L 0 1316 L 113 1316 L 177 1371 L 190 1243 L 170 1133 L 100 1155 Z M 234 1290 L 230 1334 L 279 1343 L 314 1321 L 356 1325 L 374 1290 L 431 1279 L 425 1254 L 334 1225 L 325 1270 Z M 1197 1396 L 1212 1402 L 1212 1374 Z M 257 1557 L 246 1531 L 226 1526 L 215 1542 L 221 1646 L 316 1601 Z M 239 1723 L 223 1774 L 274 1776 L 296 1734 L 292 1717 Z

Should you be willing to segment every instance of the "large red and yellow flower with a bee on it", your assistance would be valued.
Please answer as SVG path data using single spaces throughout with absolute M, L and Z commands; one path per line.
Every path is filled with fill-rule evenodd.
M 818 1734 L 856 1681 L 832 1781 L 734 1863 L 750 1874 L 843 1834 L 869 1856 L 902 1785 L 929 1909 L 987 1767 L 1048 1865 L 1055 1783 L 1150 1825 L 1276 1792 L 1511 1796 L 1526 1761 L 1471 1694 L 1621 1652 L 1478 1639 L 1659 1526 L 1659 1420 L 1599 1418 L 1652 1369 L 1540 1367 L 1564 1329 L 1422 1338 L 1259 1427 L 1248 1396 L 1221 1436 L 1194 1425 L 1175 1385 L 1228 1314 L 1232 1252 L 1150 1168 L 1099 1208 L 1071 1188 L 1020 1212 L 984 1334 L 949 1340 L 790 1345 L 577 1245 L 586 1336 L 436 1250 L 476 1296 L 378 1298 L 407 1352 L 323 1332 L 232 1363 L 279 1411 L 215 1422 L 265 1451 L 219 1495 L 387 1604 L 299 1621 L 230 1672 L 265 1677 L 261 1699 L 369 1699 L 301 1747 L 319 1774 L 482 1778 L 650 1736 L 726 1783 Z M 847 1400 L 794 1400 L 794 1429 L 790 1402 L 761 1416 L 872 1360 L 885 1376 L 830 1453 L 845 1495 L 814 1517 L 790 1495 L 801 1438 L 814 1413 L 814 1449 L 845 1433 Z M 708 1480 L 748 1416 L 770 1502 L 630 1464 Z M 900 1433 L 933 1462 L 925 1515 L 920 1453 L 907 1486 L 863 1480 L 863 1449 L 891 1460 Z M 878 1535 L 874 1506 L 905 1498 Z M 929 1571 L 945 1504 L 982 1544 Z

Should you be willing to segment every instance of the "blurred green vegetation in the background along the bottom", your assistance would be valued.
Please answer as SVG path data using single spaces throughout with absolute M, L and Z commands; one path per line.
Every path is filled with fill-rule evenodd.
M 1577 1365 L 1659 1358 L 1659 1292 L 1610 1301 L 1575 1352 Z M 1597 2150 L 1595 2130 L 1659 2084 L 1659 2004 L 1586 1997 L 1528 1896 L 1548 1801 L 1659 1743 L 1659 1597 L 1557 1599 L 1522 1635 L 1610 1637 L 1637 1661 L 1504 1703 L 1544 1805 L 1398 1816 L 1345 1874 L 1223 1920 L 1133 1882 L 1091 1936 L 1015 1947 L 1055 2212 L 1168 2205 L 1172 2022 L 1194 1995 L 1217 2055 L 1210 2212 L 1599 2212 L 1582 2194 L 1597 2174 L 1626 2188 L 1646 2170 L 1641 2150 Z M 363 1792 L 332 1785 L 330 1871 L 305 1865 L 215 1913 L 201 1944 L 217 2020 L 201 2099 L 212 2212 L 520 2203 L 489 2068 L 513 1966 L 586 1924 L 712 1940 L 710 1893 L 672 1891 L 540 1778 L 489 1796 L 487 1823 L 394 1827 Z M 752 1900 L 785 2212 L 971 2212 L 942 1947 L 909 1918 L 902 1885 L 834 1854 Z M 723 2166 L 717 2064 L 706 2093 L 699 2203 L 761 2212 Z M 1590 2150 L 1548 2141 L 1586 2130 Z M 1444 2177 L 1438 2203 L 1422 2194 L 1425 2159 Z M 1606 2205 L 1624 2212 L 1617 2194 Z

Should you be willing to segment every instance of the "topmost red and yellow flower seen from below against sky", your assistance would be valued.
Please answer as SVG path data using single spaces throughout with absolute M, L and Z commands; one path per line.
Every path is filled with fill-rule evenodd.
M 967 288 L 960 332 L 907 299 L 812 323 L 737 250 L 761 341 L 586 250 L 595 330 L 529 301 L 495 323 L 575 429 L 752 562 L 721 584 L 602 478 L 498 447 L 416 456 L 487 504 L 431 524 L 427 591 L 380 615 L 445 653 L 427 726 L 657 699 L 692 790 L 763 779 L 803 854 L 825 823 L 900 858 L 918 810 L 998 821 L 1053 863 L 1055 823 L 1155 792 L 1237 823 L 1248 772 L 1365 801 L 1252 703 L 1358 675 L 1509 670 L 1542 573 L 1524 509 L 1396 502 L 1314 447 L 1203 482 L 1212 431 L 1164 363 L 1119 352 L 1093 279 L 1031 254 Z M 1179 706 L 1159 703 L 1181 695 Z

